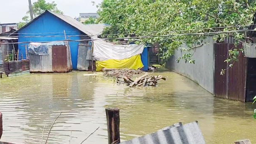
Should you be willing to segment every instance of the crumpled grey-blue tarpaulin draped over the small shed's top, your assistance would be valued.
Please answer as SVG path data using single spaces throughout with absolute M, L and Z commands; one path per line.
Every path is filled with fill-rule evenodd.
M 50 43 L 30 43 L 28 45 L 28 53 L 32 55 L 48 55 L 48 49 L 52 45 L 65 45 L 64 42 L 50 42 Z

